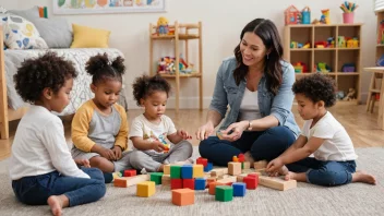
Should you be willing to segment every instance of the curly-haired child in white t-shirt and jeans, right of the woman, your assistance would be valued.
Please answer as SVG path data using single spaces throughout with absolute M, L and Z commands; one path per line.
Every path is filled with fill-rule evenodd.
M 285 153 L 269 161 L 266 171 L 286 175 L 286 180 L 319 185 L 350 182 L 375 184 L 373 176 L 356 171 L 357 155 L 352 141 L 327 110 L 336 103 L 334 81 L 322 74 L 313 74 L 297 81 L 292 91 L 299 113 L 305 120 L 303 131 Z M 314 158 L 309 157 L 311 154 Z

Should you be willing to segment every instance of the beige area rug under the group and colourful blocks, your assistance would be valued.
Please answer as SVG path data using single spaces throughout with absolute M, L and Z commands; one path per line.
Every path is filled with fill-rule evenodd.
M 196 147 L 195 147 L 196 152 Z M 375 173 L 377 185 L 351 183 L 324 188 L 298 183 L 289 191 L 259 187 L 244 197 L 216 202 L 207 191 L 195 193 L 195 204 L 171 204 L 169 188 L 158 185 L 152 197 L 136 197 L 135 187 L 108 185 L 96 203 L 64 209 L 64 215 L 384 215 L 384 148 L 357 148 L 358 168 Z M 196 156 L 196 153 L 195 155 Z M 8 177 L 7 160 L 0 161 L 0 215 L 50 215 L 48 206 L 27 206 L 16 201 Z

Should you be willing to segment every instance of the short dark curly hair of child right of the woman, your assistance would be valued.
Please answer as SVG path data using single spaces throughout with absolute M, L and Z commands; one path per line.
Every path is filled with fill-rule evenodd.
M 313 103 L 324 101 L 325 107 L 332 107 L 336 103 L 335 81 L 321 73 L 307 75 L 298 80 L 292 91 L 296 94 L 302 94 Z

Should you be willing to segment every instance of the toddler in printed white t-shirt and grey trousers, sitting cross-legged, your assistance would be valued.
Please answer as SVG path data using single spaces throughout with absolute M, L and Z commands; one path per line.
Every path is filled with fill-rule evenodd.
M 176 130 L 172 120 L 164 115 L 169 91 L 169 83 L 159 75 L 143 75 L 133 83 L 136 104 L 145 109 L 132 121 L 130 132 L 137 149 L 130 156 L 135 169 L 163 171 L 164 164 L 183 161 L 192 155 L 192 145 L 185 141 L 191 136 L 183 130 Z M 166 137 L 171 142 L 169 152 L 165 152 Z

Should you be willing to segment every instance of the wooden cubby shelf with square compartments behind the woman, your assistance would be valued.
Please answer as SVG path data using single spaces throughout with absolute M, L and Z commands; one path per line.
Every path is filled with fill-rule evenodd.
M 384 20 L 384 19 L 383 19 Z M 357 92 L 358 99 L 352 104 L 360 101 L 360 75 L 361 75 L 361 44 L 356 48 L 339 48 L 338 36 L 361 38 L 361 23 L 355 24 L 320 24 L 320 25 L 287 25 L 284 32 L 284 58 L 291 62 L 304 63 L 310 72 L 295 73 L 297 79 L 310 75 L 315 72 L 319 62 L 325 62 L 332 72 L 325 72 L 335 80 L 336 88 L 347 95 L 350 87 Z M 329 37 L 335 39 L 334 48 L 315 48 L 316 41 L 327 41 Z M 305 44 L 310 41 L 311 48 L 290 48 L 291 41 Z M 361 43 L 361 40 L 360 40 Z M 377 45 L 379 47 L 379 45 Z M 382 47 L 382 46 L 380 46 Z M 384 47 L 384 45 L 383 45 Z M 384 49 L 382 49 L 384 55 Z M 341 72 L 343 65 L 353 63 L 356 72 Z M 321 73 L 321 72 L 320 72 Z

